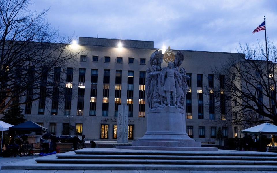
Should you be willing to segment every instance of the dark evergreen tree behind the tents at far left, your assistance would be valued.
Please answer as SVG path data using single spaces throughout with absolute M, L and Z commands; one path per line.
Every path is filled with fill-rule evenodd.
M 11 125 L 17 125 L 26 121 L 24 119 L 23 110 L 20 105 L 14 105 L 8 108 L 4 113 L 5 116 L 1 118 L 1 121 L 9 123 Z

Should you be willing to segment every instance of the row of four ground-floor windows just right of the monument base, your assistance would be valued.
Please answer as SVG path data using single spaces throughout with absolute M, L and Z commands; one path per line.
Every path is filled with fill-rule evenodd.
M 187 133 L 190 138 L 216 138 L 217 128 L 210 127 L 210 136 L 206 136 L 205 134 L 205 126 L 198 127 L 198 136 L 194 136 L 193 134 L 193 126 L 187 126 Z M 228 138 L 228 128 L 222 127 L 222 135 L 223 138 Z

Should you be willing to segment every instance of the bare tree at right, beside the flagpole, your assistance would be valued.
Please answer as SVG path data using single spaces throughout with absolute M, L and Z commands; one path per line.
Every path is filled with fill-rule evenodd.
M 240 45 L 240 58 L 231 58 L 213 67 L 216 121 L 234 125 L 273 123 L 277 125 L 276 61 L 277 48 L 268 42 L 268 59 L 263 44 Z M 208 88 L 207 88 L 208 89 Z M 209 93 L 207 93 L 209 94 Z

